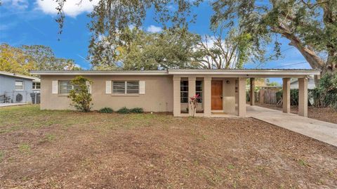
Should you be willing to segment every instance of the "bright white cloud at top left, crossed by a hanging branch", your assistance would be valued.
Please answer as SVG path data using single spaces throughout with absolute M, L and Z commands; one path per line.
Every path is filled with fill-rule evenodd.
M 63 6 L 63 11 L 65 11 L 65 15 L 76 17 L 81 13 L 91 12 L 93 10 L 93 6 L 97 5 L 98 2 L 99 0 L 67 0 Z M 58 13 L 56 10 L 58 3 L 53 0 L 37 0 L 36 4 L 37 8 L 46 14 L 55 15 Z

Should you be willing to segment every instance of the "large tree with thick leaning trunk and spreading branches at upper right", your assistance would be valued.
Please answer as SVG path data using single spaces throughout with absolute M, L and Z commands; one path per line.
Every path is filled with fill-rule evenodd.
M 214 1 L 213 27 L 232 27 L 239 20 L 244 31 L 253 34 L 255 45 L 270 43 L 273 34 L 289 39 L 308 61 L 322 72 L 337 69 L 337 1 L 270 0 Z

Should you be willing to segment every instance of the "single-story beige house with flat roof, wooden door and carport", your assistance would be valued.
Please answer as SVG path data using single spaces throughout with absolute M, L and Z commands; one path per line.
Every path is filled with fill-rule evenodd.
M 299 82 L 299 115 L 308 114 L 308 75 L 319 70 L 156 70 L 156 71 L 32 71 L 41 76 L 41 109 L 73 109 L 67 98 L 76 76 L 91 79 L 93 110 L 143 107 L 146 112 L 192 114 L 189 98 L 199 94 L 197 116 L 246 116 L 246 79 L 283 78 L 284 112 L 290 112 L 290 79 Z M 253 91 L 253 90 L 251 90 Z M 251 93 L 251 96 L 254 94 Z M 252 98 L 254 99 L 254 98 Z M 253 105 L 253 102 L 252 102 Z

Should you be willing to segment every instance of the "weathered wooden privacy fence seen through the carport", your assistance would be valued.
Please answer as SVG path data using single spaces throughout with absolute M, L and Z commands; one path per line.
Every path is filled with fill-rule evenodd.
M 282 90 L 281 87 L 262 87 L 255 93 L 256 102 L 265 104 L 277 104 L 279 99 L 277 92 Z

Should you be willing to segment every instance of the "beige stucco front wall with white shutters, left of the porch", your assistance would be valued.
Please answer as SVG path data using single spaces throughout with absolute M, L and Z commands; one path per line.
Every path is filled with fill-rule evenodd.
M 173 78 L 172 76 L 84 76 L 93 81 L 91 93 L 93 110 L 101 107 L 111 107 L 119 110 L 121 107 L 142 107 L 146 112 L 173 111 Z M 52 81 L 70 80 L 72 76 L 53 75 L 41 76 L 41 109 L 42 110 L 72 110 L 67 96 L 52 93 Z M 105 93 L 105 81 L 145 81 L 145 94 L 136 96 L 115 96 Z

